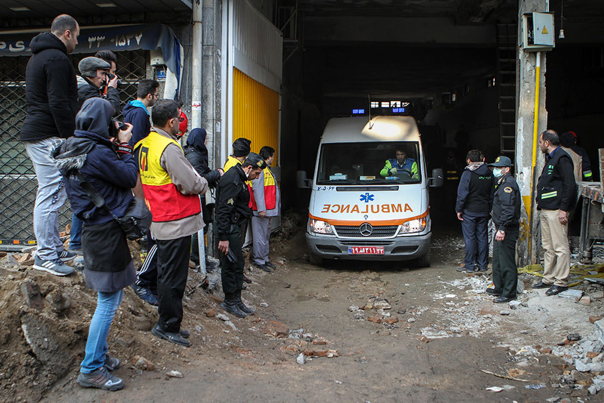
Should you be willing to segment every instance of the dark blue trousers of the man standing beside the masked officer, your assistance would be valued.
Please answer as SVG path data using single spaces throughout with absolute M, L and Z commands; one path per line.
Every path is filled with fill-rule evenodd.
M 466 257 L 464 265 L 468 269 L 474 269 L 474 262 L 478 263 L 479 269 L 486 269 L 489 264 L 489 231 L 488 217 L 472 217 L 462 215 L 461 232 L 466 243 Z

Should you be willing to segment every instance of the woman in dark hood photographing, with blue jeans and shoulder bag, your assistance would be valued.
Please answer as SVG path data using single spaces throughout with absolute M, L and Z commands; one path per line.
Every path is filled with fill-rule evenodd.
M 138 177 L 132 148 L 128 146 L 132 125 L 118 131 L 117 124 L 112 123 L 112 114 L 108 101 L 89 98 L 76 116 L 74 137 L 63 141 L 53 152 L 65 178 L 71 208 L 83 221 L 86 285 L 98 294 L 77 383 L 105 390 L 124 386 L 124 381 L 111 373 L 120 366 L 120 360 L 108 355 L 107 335 L 124 296 L 123 288 L 132 284 L 136 275 L 126 234 L 109 211 L 95 207 L 80 180 L 91 184 L 103 196 L 105 205 L 115 216 L 126 213 L 134 197 L 131 189 Z M 112 124 L 116 125 L 116 143 L 111 140 L 109 126 Z

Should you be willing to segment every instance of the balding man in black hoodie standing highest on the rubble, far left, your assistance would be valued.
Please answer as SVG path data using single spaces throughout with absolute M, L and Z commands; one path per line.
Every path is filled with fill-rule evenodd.
M 49 150 L 61 138 L 74 135 L 76 129 L 76 74 L 67 55 L 76 48 L 79 33 L 77 21 L 62 14 L 54 19 L 50 32 L 31 40 L 33 56 L 25 69 L 27 116 L 19 132 L 38 181 L 33 220 L 37 241 L 34 269 L 57 276 L 74 272 L 63 262 L 76 254 L 64 250 L 59 239 L 57 219 L 67 195 L 63 176 L 51 162 Z

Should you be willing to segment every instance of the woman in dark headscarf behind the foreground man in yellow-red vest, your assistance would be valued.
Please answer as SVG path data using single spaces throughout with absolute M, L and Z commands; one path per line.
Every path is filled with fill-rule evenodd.
M 214 189 L 224 171 L 222 169 L 210 170 L 208 148 L 206 147 L 207 141 L 207 132 L 205 129 L 193 129 L 187 137 L 187 144 L 184 146 L 183 150 L 185 152 L 185 157 L 193 168 L 200 176 L 208 181 L 208 186 L 211 189 Z M 201 209 L 205 224 L 210 224 L 210 222 L 212 222 L 212 214 L 210 208 L 205 204 L 205 195 L 201 196 Z M 206 226 L 204 227 L 204 233 L 207 233 L 207 231 L 208 227 Z M 191 245 L 193 245 L 191 260 L 193 260 L 194 263 L 199 264 L 198 239 L 195 234 L 193 234 Z

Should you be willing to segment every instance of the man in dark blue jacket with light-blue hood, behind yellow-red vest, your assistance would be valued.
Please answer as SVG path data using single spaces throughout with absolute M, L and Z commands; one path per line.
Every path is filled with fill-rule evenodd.
M 159 97 L 158 87 L 159 83 L 155 80 L 141 80 L 138 83 L 137 99 L 128 102 L 121 112 L 124 115 L 124 122 L 133 126 L 132 138 L 130 139 L 130 146 L 132 147 L 147 137 L 151 131 L 147 108 L 155 105 L 155 101 Z

